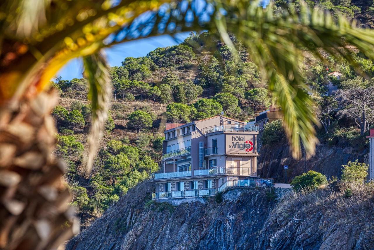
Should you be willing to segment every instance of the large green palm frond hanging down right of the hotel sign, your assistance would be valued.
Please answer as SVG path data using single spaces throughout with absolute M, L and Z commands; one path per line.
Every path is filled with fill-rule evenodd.
M 373 59 L 374 31 L 356 28 L 343 15 L 334 20 L 329 12 L 318 7 L 310 10 L 305 4 L 301 4 L 300 14 L 283 12 L 276 16 L 271 6 L 264 9 L 259 1 L 221 3 L 227 13 L 218 17 L 225 24 L 218 29 L 221 37 L 225 41 L 227 32 L 232 32 L 248 47 L 252 60 L 263 71 L 284 114 L 292 155 L 300 157 L 300 139 L 307 154 L 313 155 L 318 143 L 318 107 L 304 83 L 304 54 L 308 51 L 327 63 L 322 55 L 322 51 L 327 51 L 336 60 L 345 58 L 359 72 L 349 46 Z

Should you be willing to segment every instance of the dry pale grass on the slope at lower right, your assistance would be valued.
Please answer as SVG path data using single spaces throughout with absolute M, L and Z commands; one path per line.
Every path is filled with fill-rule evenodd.
M 352 195 L 349 197 L 347 194 L 350 191 Z M 294 214 L 305 219 L 322 213 L 341 223 L 372 224 L 374 183 L 356 185 L 333 182 L 318 190 L 292 192 L 284 197 L 274 212 Z

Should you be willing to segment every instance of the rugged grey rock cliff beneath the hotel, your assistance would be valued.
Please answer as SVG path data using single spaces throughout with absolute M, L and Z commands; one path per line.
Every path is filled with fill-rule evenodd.
M 319 195 L 304 202 L 292 195 L 275 201 L 262 188 L 233 189 L 223 194 L 220 203 L 210 197 L 174 206 L 150 201 L 153 190 L 153 184 L 147 182 L 130 190 L 70 240 L 66 249 L 335 250 L 374 246 L 373 226 L 368 223 L 374 219 L 372 195 L 371 200 L 362 201 L 365 204 L 352 200 L 347 203 L 352 207 L 347 207 L 339 200 L 344 197 L 336 202 L 329 199 L 331 191 L 320 194 L 319 204 L 312 200 Z M 343 203 L 343 211 L 349 212 L 341 212 L 337 204 Z M 365 214 L 354 219 L 355 209 L 362 205 Z

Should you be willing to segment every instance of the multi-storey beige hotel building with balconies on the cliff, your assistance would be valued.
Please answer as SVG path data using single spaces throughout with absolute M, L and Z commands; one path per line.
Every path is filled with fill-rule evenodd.
M 258 126 L 226 116 L 166 124 L 153 199 L 213 195 L 225 182 L 257 176 Z

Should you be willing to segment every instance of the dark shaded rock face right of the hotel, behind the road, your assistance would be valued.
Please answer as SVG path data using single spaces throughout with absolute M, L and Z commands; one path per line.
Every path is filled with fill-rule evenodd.
M 341 175 L 341 165 L 348 161 L 365 161 L 368 150 L 357 152 L 352 148 L 342 149 L 322 144 L 317 146 L 315 156 L 306 160 L 306 171 L 314 170 L 327 176 Z M 283 165 L 288 165 L 287 179 L 304 172 L 304 158 L 295 160 L 289 153 L 287 144 L 262 146 L 260 156 L 257 158 L 257 174 L 262 178 L 274 178 L 276 182 L 285 182 Z M 289 182 L 289 181 L 288 181 Z

